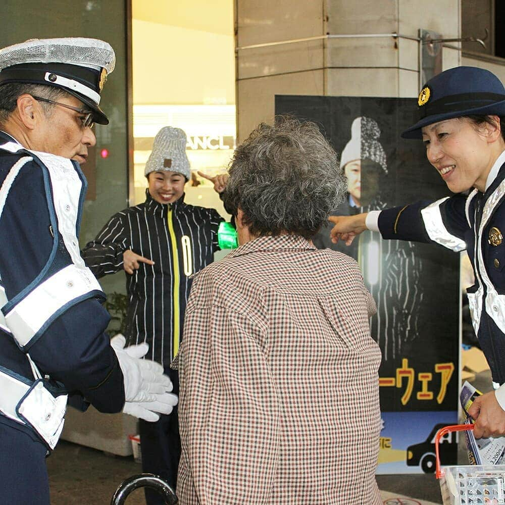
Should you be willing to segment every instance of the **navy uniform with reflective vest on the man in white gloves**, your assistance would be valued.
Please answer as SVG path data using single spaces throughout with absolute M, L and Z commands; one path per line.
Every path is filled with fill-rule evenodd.
M 37 379 L 33 363 L 54 396 L 68 392 L 73 405 L 83 410 L 91 403 L 102 412 L 119 412 L 125 401 L 123 375 L 104 333 L 110 316 L 101 305 L 104 294 L 97 284 L 84 280 L 86 287 L 78 285 L 77 277 L 86 272 L 74 264 L 75 251 L 68 250 L 59 230 L 56 188 L 46 166 L 53 159 L 63 162 L 61 170 L 73 171 L 74 181 L 81 182 L 78 200 L 69 199 L 63 208 L 68 214 L 75 211 L 77 236 L 86 188 L 77 163 L 42 153 L 37 156 L 0 132 L 0 187 L 4 190 L 0 193 L 0 291 L 8 300 L 0 321 L 0 372 L 4 380 L 12 377 L 32 386 Z M 61 200 L 57 201 L 60 205 Z M 75 247 L 78 251 L 77 242 Z M 53 287 L 68 293 L 53 303 L 47 299 L 46 282 L 55 274 L 60 279 Z M 90 272 L 89 277 L 93 278 Z M 38 311 L 30 313 L 33 304 L 43 305 L 42 316 Z M 4 384 L 2 396 L 7 394 Z M 1 403 L 0 410 L 0 502 L 48 503 L 43 460 L 51 446 L 29 422 L 9 416 Z M 13 466 L 12 452 L 6 451 L 10 445 L 25 455 L 22 465 Z

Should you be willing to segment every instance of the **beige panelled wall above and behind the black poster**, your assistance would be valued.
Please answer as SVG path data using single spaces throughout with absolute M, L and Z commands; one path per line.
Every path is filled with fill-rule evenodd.
M 237 140 L 272 120 L 275 94 L 406 97 L 419 91 L 417 40 L 342 37 L 244 46 L 326 34 L 417 38 L 420 28 L 456 38 L 460 18 L 460 0 L 236 0 Z M 445 47 L 443 68 L 459 64 L 460 52 Z

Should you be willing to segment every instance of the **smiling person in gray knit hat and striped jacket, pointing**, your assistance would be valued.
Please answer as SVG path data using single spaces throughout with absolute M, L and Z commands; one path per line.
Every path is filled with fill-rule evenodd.
M 184 203 L 191 179 L 186 134 L 166 126 L 156 135 L 145 165 L 148 187 L 142 204 L 118 212 L 82 256 L 96 277 L 124 270 L 128 311 L 125 336 L 130 344 L 147 342 L 148 357 L 160 363 L 178 392 L 170 369 L 182 336 L 191 275 L 214 261 L 223 218 L 215 209 Z M 205 176 L 205 174 L 200 174 Z M 208 177 L 218 192 L 224 176 Z M 175 488 L 180 457 L 177 409 L 156 423 L 139 422 L 144 472 L 162 476 Z M 147 503 L 164 503 L 146 489 Z

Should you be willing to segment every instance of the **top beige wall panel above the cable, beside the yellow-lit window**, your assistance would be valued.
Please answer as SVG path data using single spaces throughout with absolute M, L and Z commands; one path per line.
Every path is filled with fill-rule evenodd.
M 323 0 L 236 1 L 237 45 L 323 35 Z

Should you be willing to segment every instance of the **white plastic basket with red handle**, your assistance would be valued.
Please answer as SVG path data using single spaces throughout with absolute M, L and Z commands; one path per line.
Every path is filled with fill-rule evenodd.
M 438 442 L 450 431 L 473 430 L 457 424 L 438 430 L 435 437 L 436 477 L 443 505 L 505 505 L 505 465 L 463 465 L 440 468 Z

